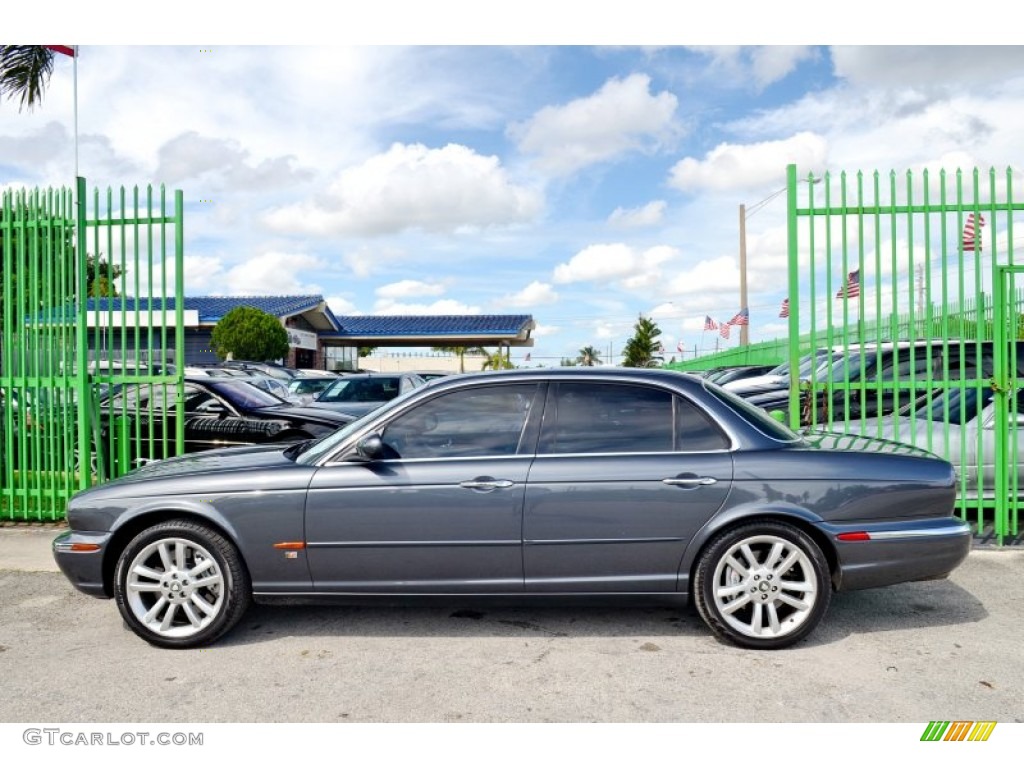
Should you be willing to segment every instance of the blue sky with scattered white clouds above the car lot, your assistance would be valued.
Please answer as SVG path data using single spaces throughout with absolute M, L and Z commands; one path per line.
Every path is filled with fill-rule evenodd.
M 802 176 L 1020 166 L 1024 46 L 955 35 L 956 6 L 933 37 L 975 44 L 811 45 L 800 38 L 823 35 L 797 29 L 740 45 L 716 15 L 676 37 L 669 19 L 588 7 L 602 11 L 582 35 L 593 45 L 570 15 L 530 25 L 526 11 L 507 37 L 501 18 L 474 35 L 420 30 L 410 12 L 366 35 L 308 16 L 261 17 L 248 35 L 215 18 L 191 44 L 187 25 L 92 31 L 79 38 L 78 172 L 183 191 L 188 295 L 528 313 L 535 347 L 513 361 L 557 365 L 584 346 L 620 361 L 640 315 L 667 356 L 735 346 L 702 329 L 740 309 L 740 204 L 757 209 L 750 338 L 784 336 L 785 196 L 772 196 L 791 163 Z M 726 37 L 770 40 L 761 18 Z M 40 108 L 0 102 L 0 188 L 71 183 L 74 81 L 58 56 Z

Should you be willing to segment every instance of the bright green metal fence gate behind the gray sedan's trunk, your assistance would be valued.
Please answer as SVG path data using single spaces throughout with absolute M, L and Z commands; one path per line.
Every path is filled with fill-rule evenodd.
M 794 426 L 884 437 L 957 467 L 979 535 L 1017 537 L 1024 296 L 1011 171 L 787 169 Z M 1024 435 L 1024 430 L 1021 431 Z

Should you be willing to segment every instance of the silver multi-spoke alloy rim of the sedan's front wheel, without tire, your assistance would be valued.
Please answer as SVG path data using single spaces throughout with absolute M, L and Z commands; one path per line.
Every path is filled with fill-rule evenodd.
M 186 638 L 202 632 L 224 606 L 224 574 L 210 552 L 187 539 L 159 539 L 128 566 L 126 602 L 156 635 Z

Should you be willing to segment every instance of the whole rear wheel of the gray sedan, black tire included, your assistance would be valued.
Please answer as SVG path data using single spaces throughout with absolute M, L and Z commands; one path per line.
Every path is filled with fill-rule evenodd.
M 723 640 L 784 648 L 807 637 L 831 600 L 828 564 L 804 531 L 784 522 L 730 528 L 708 545 L 693 579 L 697 612 Z

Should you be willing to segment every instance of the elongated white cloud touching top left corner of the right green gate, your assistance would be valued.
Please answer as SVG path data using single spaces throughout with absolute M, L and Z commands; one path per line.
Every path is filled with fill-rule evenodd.
M 751 189 L 785 183 L 785 167 L 820 173 L 828 159 L 828 142 L 808 131 L 780 141 L 722 143 L 705 159 L 683 158 L 672 167 L 669 184 L 687 193 L 703 189 Z

